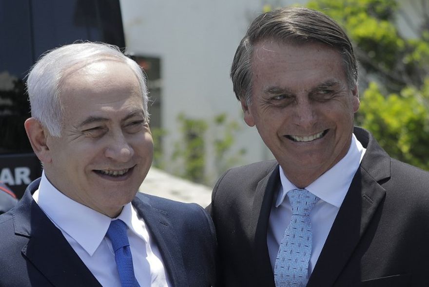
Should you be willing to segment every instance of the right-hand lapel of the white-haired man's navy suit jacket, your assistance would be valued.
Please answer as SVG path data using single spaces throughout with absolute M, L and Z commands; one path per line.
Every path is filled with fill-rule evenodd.
M 149 198 L 139 193 L 133 205 L 143 217 L 151 237 L 161 253 L 164 266 L 173 286 L 188 286 L 182 251 L 176 238 L 176 231 L 168 218 L 168 213 L 150 205 Z

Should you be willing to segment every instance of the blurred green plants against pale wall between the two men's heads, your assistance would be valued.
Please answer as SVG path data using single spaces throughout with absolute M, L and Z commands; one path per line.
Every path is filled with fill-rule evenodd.
M 195 119 L 181 113 L 177 116 L 181 138 L 174 143 L 171 159 L 164 158 L 162 139 L 168 134 L 162 129 L 152 131 L 154 138 L 154 166 L 168 169 L 170 166 L 179 166 L 172 172 L 183 178 L 197 183 L 212 183 L 207 178 L 207 149 L 212 145 L 215 152 L 215 170 L 217 173 L 237 165 L 246 153 L 244 149 L 232 153 L 235 135 L 239 130 L 238 123 L 228 119 L 226 114 L 216 115 L 213 120 Z M 213 126 L 213 133 L 207 134 L 209 126 Z M 215 174 L 217 177 L 218 174 Z

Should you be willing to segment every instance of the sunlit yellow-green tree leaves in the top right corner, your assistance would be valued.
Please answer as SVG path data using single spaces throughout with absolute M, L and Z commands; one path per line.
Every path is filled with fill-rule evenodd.
M 412 4 L 408 5 L 412 9 Z M 386 91 L 399 93 L 405 86 L 422 86 L 429 72 L 429 18 L 425 11 L 418 19 L 421 27 L 414 31 L 418 37 L 405 38 L 396 26 L 401 8 L 397 0 L 313 0 L 307 6 L 345 28 L 360 64 Z

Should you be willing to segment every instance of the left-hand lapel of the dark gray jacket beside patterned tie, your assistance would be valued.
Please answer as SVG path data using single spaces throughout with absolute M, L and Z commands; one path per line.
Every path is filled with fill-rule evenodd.
M 273 171 L 258 183 L 254 194 L 248 230 L 256 265 L 256 278 L 259 280 L 257 286 L 274 286 L 274 274 L 267 246 L 267 230 L 274 193 L 279 189 L 279 178 L 278 164 L 275 164 Z

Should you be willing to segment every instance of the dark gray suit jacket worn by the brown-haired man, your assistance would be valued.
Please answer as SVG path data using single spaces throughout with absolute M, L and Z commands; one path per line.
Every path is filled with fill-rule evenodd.
M 429 286 L 429 173 L 399 162 L 367 131 L 367 149 L 307 287 Z M 267 227 L 276 161 L 229 170 L 213 191 L 223 284 L 274 287 Z

